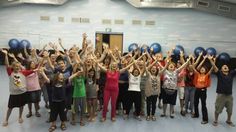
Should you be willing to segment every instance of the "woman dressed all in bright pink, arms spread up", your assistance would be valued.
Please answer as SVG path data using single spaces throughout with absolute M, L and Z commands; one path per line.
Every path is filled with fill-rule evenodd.
M 127 67 L 123 69 L 118 69 L 117 63 L 113 62 L 110 65 L 109 69 L 106 69 L 101 64 L 97 63 L 101 70 L 106 72 L 106 83 L 104 88 L 104 96 L 103 96 L 103 111 L 102 111 L 102 119 L 101 122 L 106 121 L 106 113 L 108 102 L 111 99 L 111 120 L 116 121 L 116 100 L 119 93 L 118 81 L 120 77 L 120 73 L 125 72 L 133 63 L 129 64 Z

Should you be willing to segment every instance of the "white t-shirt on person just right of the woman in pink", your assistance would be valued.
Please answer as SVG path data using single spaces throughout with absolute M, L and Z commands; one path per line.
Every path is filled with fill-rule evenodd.
M 141 82 L 141 75 L 133 76 L 132 74 L 129 75 L 129 88 L 128 91 L 137 91 L 140 92 L 140 82 Z

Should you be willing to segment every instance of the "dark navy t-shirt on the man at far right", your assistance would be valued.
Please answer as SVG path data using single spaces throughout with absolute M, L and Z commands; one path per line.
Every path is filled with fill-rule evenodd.
M 216 93 L 232 95 L 233 79 L 235 75 L 236 70 L 230 71 L 228 75 L 223 74 L 222 71 L 218 71 L 216 73 L 218 78 Z

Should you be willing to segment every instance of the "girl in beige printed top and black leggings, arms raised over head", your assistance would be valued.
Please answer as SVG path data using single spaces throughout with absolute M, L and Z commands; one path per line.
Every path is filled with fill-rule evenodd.
M 161 87 L 161 81 L 160 81 L 160 74 L 166 69 L 162 67 L 162 70 L 159 72 L 159 68 L 157 68 L 156 65 L 154 65 L 157 62 L 154 61 L 147 69 L 147 75 L 148 79 L 146 81 L 146 88 L 145 88 L 145 95 L 147 97 L 146 104 L 147 104 L 147 117 L 146 120 L 149 121 L 150 118 L 152 121 L 156 121 L 155 117 L 155 111 L 156 111 L 156 103 L 157 103 L 157 97 L 160 95 L 160 87 Z M 167 65 L 166 65 L 167 66 Z M 152 115 L 150 117 L 152 107 Z

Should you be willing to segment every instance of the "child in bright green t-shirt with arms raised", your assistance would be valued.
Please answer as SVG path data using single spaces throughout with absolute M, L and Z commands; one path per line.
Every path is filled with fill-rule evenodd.
M 75 125 L 75 115 L 80 110 L 80 126 L 84 126 L 84 109 L 86 106 L 85 76 L 82 68 L 75 67 L 75 73 L 70 76 L 69 81 L 73 85 L 73 107 L 71 124 Z

